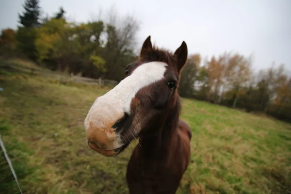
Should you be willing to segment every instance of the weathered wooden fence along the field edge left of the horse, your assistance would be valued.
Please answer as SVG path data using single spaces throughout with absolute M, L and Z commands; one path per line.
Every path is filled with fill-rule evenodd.
M 84 83 L 84 84 L 95 84 L 99 86 L 115 86 L 117 85 L 118 81 L 114 80 L 106 80 L 106 79 L 92 79 L 92 78 L 85 78 L 81 76 L 75 76 L 73 74 L 68 75 L 61 72 L 55 72 L 50 70 L 44 70 L 41 68 L 31 68 L 22 65 L 10 64 L 5 62 L 0 62 L 0 69 L 4 69 L 10 72 L 19 72 L 25 73 L 29 75 L 36 75 L 41 76 L 48 79 L 57 79 L 62 83 L 66 82 L 75 82 L 75 83 Z

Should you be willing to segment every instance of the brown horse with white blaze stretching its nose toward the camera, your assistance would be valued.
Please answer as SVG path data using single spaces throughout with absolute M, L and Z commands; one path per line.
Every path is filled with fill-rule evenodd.
M 179 118 L 180 72 L 188 49 L 183 41 L 174 52 L 152 46 L 150 36 L 125 78 L 97 97 L 84 127 L 88 146 L 115 157 L 138 138 L 129 159 L 129 194 L 175 194 L 191 156 L 190 127 Z

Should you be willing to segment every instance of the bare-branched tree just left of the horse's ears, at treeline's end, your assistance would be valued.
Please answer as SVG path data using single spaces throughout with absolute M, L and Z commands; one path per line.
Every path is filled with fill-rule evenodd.
M 126 65 L 137 57 L 134 49 L 140 24 L 134 16 L 118 16 L 114 9 L 110 10 L 104 21 L 107 38 L 101 46 L 101 56 L 105 59 L 108 69 L 104 77 L 121 81 L 124 78 Z

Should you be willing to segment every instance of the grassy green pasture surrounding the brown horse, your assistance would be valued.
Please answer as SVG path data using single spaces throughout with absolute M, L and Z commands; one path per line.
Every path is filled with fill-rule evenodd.
M 106 89 L 1 72 L 0 134 L 25 194 L 127 194 L 132 146 L 116 158 L 91 150 L 82 127 Z M 291 194 L 291 125 L 183 99 L 191 163 L 177 194 Z M 132 143 L 133 146 L 136 142 Z M 0 193 L 18 194 L 0 152 Z

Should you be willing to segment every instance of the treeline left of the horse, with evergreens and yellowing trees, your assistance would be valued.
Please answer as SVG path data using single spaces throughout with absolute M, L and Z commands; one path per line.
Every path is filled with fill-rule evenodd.
M 130 15 L 118 16 L 112 9 L 103 20 L 77 23 L 65 18 L 62 7 L 54 16 L 42 17 L 39 0 L 26 0 L 23 8 L 17 30 L 1 32 L 2 55 L 17 54 L 51 70 L 116 81 L 136 57 L 139 23 Z

